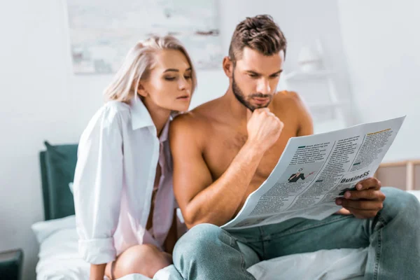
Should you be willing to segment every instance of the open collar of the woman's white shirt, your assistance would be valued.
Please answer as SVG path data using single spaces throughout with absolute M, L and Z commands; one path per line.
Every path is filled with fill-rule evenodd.
M 148 112 L 146 106 L 144 106 L 140 97 L 136 95 L 133 97 L 131 102 L 131 112 L 132 112 L 132 129 L 137 130 L 143 127 L 153 127 L 155 129 L 155 123 L 153 123 L 151 114 Z M 160 133 L 159 141 L 163 143 L 167 141 L 169 134 L 169 123 L 172 120 L 172 116 L 169 116 L 169 120 L 165 123 L 162 132 Z M 156 130 L 156 129 L 155 129 Z

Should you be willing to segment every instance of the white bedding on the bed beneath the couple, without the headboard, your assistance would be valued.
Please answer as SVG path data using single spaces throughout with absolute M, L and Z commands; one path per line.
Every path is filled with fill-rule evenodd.
M 420 191 L 413 192 L 420 200 Z M 89 279 L 89 264 L 78 255 L 74 216 L 43 221 L 32 226 L 40 243 L 37 280 Z M 360 249 L 321 250 L 313 253 L 287 255 L 259 262 L 248 271 L 259 280 L 274 279 L 363 279 L 367 251 Z M 159 280 L 172 280 L 165 269 Z M 157 276 L 158 276 L 157 275 Z M 132 274 L 121 280 L 145 280 Z

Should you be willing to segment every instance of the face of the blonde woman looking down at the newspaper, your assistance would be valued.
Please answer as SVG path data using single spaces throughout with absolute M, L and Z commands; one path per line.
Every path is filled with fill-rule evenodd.
M 186 56 L 179 50 L 160 50 L 155 53 L 150 75 L 140 81 L 139 94 L 144 97 L 146 106 L 187 111 L 192 85 L 192 69 Z

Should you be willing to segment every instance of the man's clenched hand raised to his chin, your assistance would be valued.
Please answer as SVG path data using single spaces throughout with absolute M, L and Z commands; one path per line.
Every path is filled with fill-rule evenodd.
M 255 144 L 265 153 L 279 139 L 284 124 L 267 108 L 255 109 L 248 118 L 248 143 Z

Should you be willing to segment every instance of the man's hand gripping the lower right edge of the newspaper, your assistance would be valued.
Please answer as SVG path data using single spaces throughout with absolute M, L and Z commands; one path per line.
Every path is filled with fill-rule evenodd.
M 373 218 L 382 209 L 385 200 L 381 182 L 368 178 L 356 184 L 356 190 L 347 190 L 344 197 L 335 200 L 343 209 L 337 214 L 353 214 L 356 218 Z

